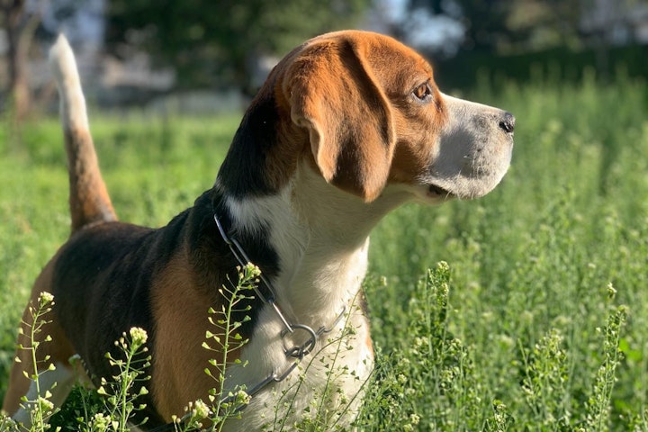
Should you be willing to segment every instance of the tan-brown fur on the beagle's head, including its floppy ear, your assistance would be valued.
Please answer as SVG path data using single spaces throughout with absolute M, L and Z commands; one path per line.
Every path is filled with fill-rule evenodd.
M 282 147 L 267 160 L 277 188 L 300 157 L 366 202 L 389 181 L 414 184 L 426 175 L 447 112 L 432 67 L 414 50 L 377 34 L 330 33 L 286 56 L 268 82 L 257 97 L 274 97 L 280 114 Z M 432 104 L 412 100 L 424 83 Z

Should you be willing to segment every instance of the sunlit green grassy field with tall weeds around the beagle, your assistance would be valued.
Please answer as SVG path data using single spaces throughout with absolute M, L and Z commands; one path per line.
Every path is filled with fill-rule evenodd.
M 518 118 L 513 165 L 481 200 L 405 206 L 374 232 L 379 356 L 359 426 L 648 430 L 648 85 L 482 88 L 468 96 Z M 211 186 L 238 124 L 91 119 L 121 219 L 154 226 Z M 31 282 L 69 221 L 57 122 L 20 145 L 0 134 L 2 397 Z

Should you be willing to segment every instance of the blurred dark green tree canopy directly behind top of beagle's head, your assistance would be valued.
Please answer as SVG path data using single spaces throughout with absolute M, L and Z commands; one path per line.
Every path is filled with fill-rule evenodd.
M 370 0 L 112 0 L 107 44 L 146 49 L 175 67 L 184 86 L 257 90 L 260 58 L 281 57 L 304 39 L 353 25 Z

